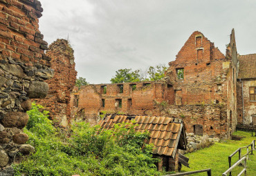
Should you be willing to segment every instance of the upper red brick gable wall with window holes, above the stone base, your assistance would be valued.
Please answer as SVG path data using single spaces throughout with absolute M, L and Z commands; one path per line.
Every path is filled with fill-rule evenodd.
M 167 70 L 170 84 L 173 84 L 177 93 L 176 101 L 185 105 L 214 104 L 216 100 L 219 103 L 225 100 L 226 95 L 223 94 L 226 92 L 217 91 L 217 84 L 221 84 L 223 90 L 226 88 L 226 78 L 222 76 L 226 73 L 223 69 L 224 61 L 225 56 L 218 48 L 214 48 L 214 43 L 201 32 L 194 32 L 181 48 L 176 60 L 169 63 L 170 68 Z M 177 68 L 184 68 L 184 79 L 177 79 Z

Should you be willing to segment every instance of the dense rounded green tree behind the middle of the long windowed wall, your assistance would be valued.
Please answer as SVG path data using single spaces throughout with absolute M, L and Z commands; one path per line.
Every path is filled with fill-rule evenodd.
M 127 83 L 127 82 L 138 82 L 140 81 L 139 70 L 131 71 L 130 69 L 120 69 L 116 71 L 115 77 L 110 81 L 111 83 Z

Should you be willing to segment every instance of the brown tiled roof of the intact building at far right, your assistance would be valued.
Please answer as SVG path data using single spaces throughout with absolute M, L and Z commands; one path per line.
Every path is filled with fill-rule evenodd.
M 239 56 L 239 71 L 237 78 L 256 78 L 256 54 Z

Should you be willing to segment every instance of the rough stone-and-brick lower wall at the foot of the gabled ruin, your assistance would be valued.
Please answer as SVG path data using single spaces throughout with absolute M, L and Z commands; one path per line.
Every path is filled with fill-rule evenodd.
M 227 137 L 227 113 L 223 104 L 170 105 L 162 108 L 161 116 L 183 119 L 187 133 Z

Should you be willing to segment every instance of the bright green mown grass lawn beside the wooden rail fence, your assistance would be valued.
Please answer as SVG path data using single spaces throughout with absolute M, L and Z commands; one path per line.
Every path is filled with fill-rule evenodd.
M 188 153 L 185 156 L 190 158 L 189 164 L 190 168 L 182 166 L 181 172 L 188 172 L 193 170 L 202 170 L 205 168 L 212 169 L 213 176 L 222 175 L 228 169 L 228 156 L 231 155 L 237 148 L 247 146 L 253 140 L 256 140 L 256 137 L 252 137 L 251 133 L 237 131 L 233 135 L 243 136 L 245 138 L 241 141 L 226 140 L 221 141 L 220 143 L 215 143 L 209 148 L 204 148 L 202 150 L 197 150 L 194 153 Z M 255 135 L 255 133 L 253 133 Z M 241 150 L 241 155 L 246 153 L 246 148 Z M 249 155 L 249 160 L 247 161 L 247 175 L 255 176 L 256 175 L 256 150 L 253 151 L 254 155 Z M 238 153 L 232 157 L 232 164 L 237 162 Z M 238 175 L 241 172 L 243 167 L 239 166 L 235 168 L 232 172 L 232 176 Z M 207 173 L 199 173 L 194 175 L 207 175 Z

